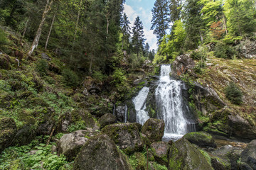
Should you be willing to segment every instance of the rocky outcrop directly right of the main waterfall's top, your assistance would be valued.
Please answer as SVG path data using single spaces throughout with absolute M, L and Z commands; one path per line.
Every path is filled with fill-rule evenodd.
M 193 69 L 195 66 L 196 63 L 189 57 L 189 55 L 179 55 L 171 65 L 171 74 L 174 75 L 174 77 L 178 77 L 181 74 L 185 74 L 188 69 Z

